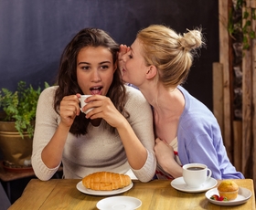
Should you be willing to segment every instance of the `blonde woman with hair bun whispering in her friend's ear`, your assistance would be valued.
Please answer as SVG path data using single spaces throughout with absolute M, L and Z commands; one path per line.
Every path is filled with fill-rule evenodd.
M 140 89 L 154 110 L 159 179 L 182 176 L 186 163 L 207 164 L 216 179 L 244 178 L 229 162 L 212 112 L 181 86 L 203 45 L 199 29 L 180 35 L 154 25 L 139 31 L 131 47 L 120 49 L 123 81 Z

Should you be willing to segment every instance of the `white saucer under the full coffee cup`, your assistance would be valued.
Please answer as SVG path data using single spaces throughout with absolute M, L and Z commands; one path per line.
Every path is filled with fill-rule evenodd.
M 171 185 L 176 188 L 176 190 L 183 191 L 186 193 L 200 193 L 208 191 L 208 189 L 215 187 L 218 184 L 217 180 L 214 178 L 209 178 L 209 180 L 199 187 L 189 187 L 185 183 L 183 177 L 178 177 L 171 182 Z

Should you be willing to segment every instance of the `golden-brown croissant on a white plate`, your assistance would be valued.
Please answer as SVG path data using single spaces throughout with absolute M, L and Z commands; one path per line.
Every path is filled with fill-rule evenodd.
M 82 184 L 91 190 L 111 191 L 131 184 L 129 175 L 111 172 L 91 173 L 82 179 Z

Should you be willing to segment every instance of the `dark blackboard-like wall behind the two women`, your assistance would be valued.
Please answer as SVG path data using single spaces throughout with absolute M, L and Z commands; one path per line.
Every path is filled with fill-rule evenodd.
M 100 27 L 131 45 L 137 31 L 151 24 L 179 33 L 203 28 L 207 48 L 184 86 L 212 110 L 212 63 L 219 61 L 216 0 L 0 0 L 0 89 L 14 90 L 19 80 L 53 84 L 63 48 L 83 27 Z

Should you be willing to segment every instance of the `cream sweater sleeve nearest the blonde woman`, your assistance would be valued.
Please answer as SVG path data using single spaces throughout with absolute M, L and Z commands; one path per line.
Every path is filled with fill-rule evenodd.
M 128 121 L 147 150 L 147 159 L 144 166 L 139 170 L 132 170 L 140 181 L 149 182 L 155 175 L 156 167 L 153 113 L 149 103 L 138 89 L 127 87 L 127 93 L 128 100 L 125 108 L 130 113 Z

